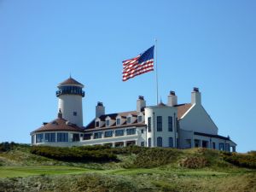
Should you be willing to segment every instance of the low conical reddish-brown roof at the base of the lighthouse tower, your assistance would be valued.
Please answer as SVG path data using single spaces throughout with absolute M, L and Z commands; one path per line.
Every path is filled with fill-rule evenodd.
M 68 123 L 66 119 L 58 118 L 46 125 L 41 126 L 35 131 L 32 132 L 42 132 L 42 131 L 79 131 L 83 132 L 84 129 L 80 128 L 77 125 Z

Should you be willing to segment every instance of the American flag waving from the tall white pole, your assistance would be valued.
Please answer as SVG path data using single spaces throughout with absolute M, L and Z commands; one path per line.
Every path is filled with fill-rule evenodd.
M 123 61 L 123 81 L 154 71 L 154 46 L 137 57 Z

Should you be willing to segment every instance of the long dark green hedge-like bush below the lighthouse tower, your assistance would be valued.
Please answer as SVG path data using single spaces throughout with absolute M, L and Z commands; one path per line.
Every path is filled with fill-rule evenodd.
M 33 146 L 32 154 L 38 154 L 55 160 L 64 161 L 111 161 L 117 160 L 117 156 L 105 150 L 105 147 L 49 147 L 49 146 Z

